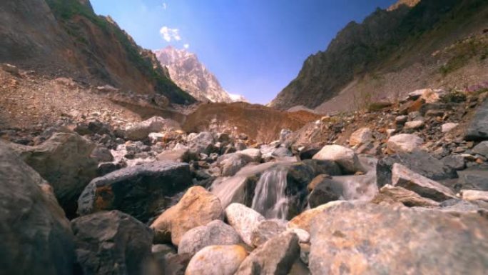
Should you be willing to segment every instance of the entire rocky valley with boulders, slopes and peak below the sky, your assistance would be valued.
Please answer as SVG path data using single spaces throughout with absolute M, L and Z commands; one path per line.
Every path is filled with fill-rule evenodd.
M 1 2 L 0 275 L 486 274 L 485 11 L 376 11 L 310 56 L 271 108 L 233 102 L 195 55 L 143 49 L 87 0 Z M 390 36 L 417 26 L 412 12 L 437 16 L 419 19 L 432 29 Z M 410 81 L 352 34 L 368 29 L 360 40 L 400 64 L 386 44 L 416 51 L 457 12 L 466 37 L 436 40 L 454 45 L 435 54 L 456 68 L 441 86 L 372 84 L 377 71 Z M 340 89 L 359 85 L 377 95 L 316 108 L 352 104 Z

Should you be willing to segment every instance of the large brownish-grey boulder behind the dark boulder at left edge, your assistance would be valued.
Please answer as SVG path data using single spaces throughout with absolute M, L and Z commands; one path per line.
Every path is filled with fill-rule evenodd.
M 21 158 L 53 186 L 68 218 L 76 216 L 76 199 L 96 177 L 95 144 L 74 133 L 57 133 L 39 146 L 17 146 Z

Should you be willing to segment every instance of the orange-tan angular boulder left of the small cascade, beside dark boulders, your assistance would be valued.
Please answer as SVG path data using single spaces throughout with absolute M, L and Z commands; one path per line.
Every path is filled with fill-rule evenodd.
M 190 229 L 203 226 L 215 219 L 223 220 L 223 209 L 218 197 L 201 186 L 193 186 L 186 191 L 178 204 L 158 216 L 151 224 L 158 242 L 171 237 L 171 242 L 178 246 L 183 235 Z

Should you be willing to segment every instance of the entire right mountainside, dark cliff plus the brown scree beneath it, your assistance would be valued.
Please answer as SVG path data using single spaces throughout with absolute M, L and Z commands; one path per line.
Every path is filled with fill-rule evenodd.
M 378 9 L 310 56 L 270 106 L 345 111 L 426 86 L 482 82 L 488 76 L 487 14 L 487 1 L 480 0 L 400 1 Z

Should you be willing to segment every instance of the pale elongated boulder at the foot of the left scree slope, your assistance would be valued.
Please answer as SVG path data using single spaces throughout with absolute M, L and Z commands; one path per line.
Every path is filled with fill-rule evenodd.
M 179 129 L 181 129 L 181 126 L 178 122 L 171 119 L 163 119 L 159 116 L 153 116 L 151 119 L 128 126 L 126 128 L 126 139 L 143 140 L 147 139 L 148 135 L 151 133 Z

